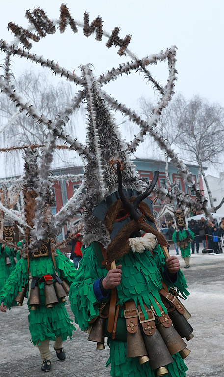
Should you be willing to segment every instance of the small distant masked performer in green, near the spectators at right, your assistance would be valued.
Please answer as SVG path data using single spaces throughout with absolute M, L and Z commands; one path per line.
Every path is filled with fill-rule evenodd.
M 175 242 L 181 251 L 181 256 L 185 262 L 185 269 L 190 267 L 190 256 L 191 256 L 191 242 L 194 239 L 194 233 L 187 228 L 184 213 L 181 210 L 175 212 L 176 226 L 178 230 L 172 235 L 173 242 Z

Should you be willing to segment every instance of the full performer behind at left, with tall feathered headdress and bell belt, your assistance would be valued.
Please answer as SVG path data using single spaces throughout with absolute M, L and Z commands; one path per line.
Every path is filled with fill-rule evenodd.
M 43 361 L 41 370 L 48 372 L 51 368 L 49 340 L 55 341 L 54 349 L 58 359 L 65 359 L 63 341 L 72 337 L 75 327 L 65 308 L 66 296 L 76 270 L 73 263 L 60 253 L 52 251 L 50 240 L 41 243 L 41 248 L 31 248 L 32 238 L 29 229 L 33 226 L 35 198 L 35 179 L 38 170 L 35 165 L 37 156 L 34 151 L 27 152 L 25 162 L 28 178 L 24 185 L 25 215 L 29 228 L 25 230 L 24 254 L 6 280 L 1 292 L 0 309 L 6 312 L 13 301 L 22 306 L 23 297 L 28 298 L 29 329 L 31 340 L 37 345 Z M 36 171 L 35 171 L 36 168 Z M 47 218 L 45 211 L 45 219 Z M 26 236 L 27 235 L 27 236 Z M 22 243 L 20 244 L 20 246 Z

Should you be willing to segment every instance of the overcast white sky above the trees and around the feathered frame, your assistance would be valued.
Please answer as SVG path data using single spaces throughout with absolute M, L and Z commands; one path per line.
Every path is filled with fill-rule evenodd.
M 24 17 L 27 9 L 40 6 L 50 19 L 56 19 L 59 18 L 61 3 L 61 0 L 0 0 L 0 39 L 7 42 L 14 39 L 7 30 L 10 21 L 24 28 L 28 26 Z M 181 92 L 187 98 L 199 94 L 224 106 L 222 0 L 68 0 L 67 6 L 76 20 L 82 21 L 87 10 L 90 22 L 100 15 L 108 32 L 118 26 L 121 27 L 120 37 L 131 34 L 130 50 L 139 58 L 177 45 L 179 75 L 175 92 Z M 108 49 L 106 41 L 105 38 L 98 42 L 93 36 L 84 37 L 81 28 L 74 34 L 68 26 L 62 35 L 57 30 L 40 42 L 33 42 L 31 51 L 76 72 L 79 65 L 92 63 L 96 74 L 99 74 L 130 60 L 116 54 L 117 48 Z M 23 69 L 38 69 L 36 65 L 17 58 L 14 59 L 14 67 L 16 75 Z M 151 67 L 151 72 L 161 83 L 165 82 L 167 71 L 164 63 Z M 141 96 L 153 99 L 150 86 L 139 74 L 132 75 L 131 80 L 122 77 L 106 89 L 130 107 L 135 107 Z

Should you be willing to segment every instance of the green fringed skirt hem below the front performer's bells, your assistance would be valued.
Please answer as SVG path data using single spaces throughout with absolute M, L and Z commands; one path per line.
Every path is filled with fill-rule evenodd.
M 149 363 L 140 365 L 138 357 L 127 358 L 127 343 L 108 340 L 110 357 L 106 366 L 111 364 L 113 377 L 157 377 L 156 370 L 151 370 Z M 186 377 L 187 367 L 179 353 L 172 356 L 173 362 L 166 366 L 165 377 Z

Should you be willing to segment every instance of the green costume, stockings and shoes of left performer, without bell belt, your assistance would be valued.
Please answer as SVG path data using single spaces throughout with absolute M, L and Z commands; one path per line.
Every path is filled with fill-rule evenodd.
M 42 360 L 45 360 L 48 366 L 51 360 L 51 353 L 49 350 L 49 340 L 54 340 L 54 348 L 59 359 L 65 359 L 65 353 L 62 348 L 62 342 L 67 337 L 72 337 L 72 332 L 75 327 L 68 316 L 63 299 L 58 299 L 58 303 L 52 307 L 45 306 L 45 275 L 53 276 L 53 283 L 56 282 L 57 276 L 64 279 L 69 285 L 74 280 L 76 270 L 73 263 L 67 257 L 56 251 L 54 268 L 52 256 L 43 256 L 29 259 L 29 275 L 27 273 L 28 259 L 20 259 L 16 264 L 15 269 L 8 277 L 5 285 L 0 292 L 1 302 L 10 309 L 17 294 L 26 287 L 26 296 L 28 298 L 29 307 L 29 329 L 32 337 L 32 343 L 37 345 L 40 350 Z M 30 307 L 29 295 L 31 282 L 33 278 L 36 285 L 39 287 L 40 303 Z M 35 309 L 35 310 L 32 310 Z M 47 363 L 48 362 L 48 363 Z M 50 369 L 50 368 L 49 368 Z

